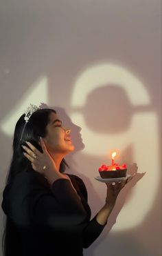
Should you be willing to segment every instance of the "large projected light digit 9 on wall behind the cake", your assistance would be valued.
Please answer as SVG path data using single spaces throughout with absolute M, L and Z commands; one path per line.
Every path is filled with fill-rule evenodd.
M 84 108 L 87 98 L 96 89 L 108 85 L 111 85 L 111 88 L 113 85 L 115 88 L 118 86 L 124 91 L 130 101 L 129 108 L 132 109 L 130 125 L 126 130 L 118 131 L 115 134 L 89 128 L 88 121 L 85 121 L 87 111 Z M 95 100 L 93 104 L 95 108 L 97 101 Z M 84 70 L 76 81 L 69 115 L 73 123 L 82 127 L 85 144 L 82 152 L 85 155 L 103 156 L 107 155 L 112 148 L 123 152 L 128 145 L 132 146 L 133 159 L 139 167 L 138 172 L 146 172 L 146 175 L 133 188 L 131 199 L 119 213 L 117 217 L 119 221 L 113 227 L 113 231 L 137 226 L 152 208 L 159 183 L 157 115 L 151 110 L 151 101 L 145 86 L 135 75 L 120 66 L 103 63 L 90 67 Z M 113 122 L 115 119 L 113 112 L 109 118 Z M 95 122 L 93 126 L 95 127 Z M 145 193 L 147 195 L 144 195 Z M 140 206 L 138 210 L 137 205 Z M 128 215 L 128 213 L 131 214 Z

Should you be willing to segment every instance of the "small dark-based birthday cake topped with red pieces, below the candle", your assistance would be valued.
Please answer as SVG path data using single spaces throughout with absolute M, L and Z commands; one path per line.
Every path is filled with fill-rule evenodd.
M 106 166 L 103 164 L 98 170 L 103 179 L 121 178 L 126 177 L 127 166 L 126 164 L 122 166 L 118 166 L 118 164 Z

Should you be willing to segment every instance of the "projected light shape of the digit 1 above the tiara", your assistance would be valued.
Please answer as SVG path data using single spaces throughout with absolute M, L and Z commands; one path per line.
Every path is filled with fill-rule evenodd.
M 46 76 L 41 76 L 37 79 L 30 89 L 25 92 L 19 102 L 16 102 L 14 108 L 1 120 L 1 130 L 4 134 L 12 136 L 16 121 L 23 115 L 27 107 L 32 103 L 36 106 L 40 102 L 48 102 L 48 79 Z

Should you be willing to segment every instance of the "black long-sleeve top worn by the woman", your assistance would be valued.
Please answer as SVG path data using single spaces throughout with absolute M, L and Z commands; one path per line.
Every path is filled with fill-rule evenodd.
M 57 179 L 50 185 L 29 171 L 5 186 L 1 207 L 10 227 L 9 256 L 82 256 L 82 248 L 102 233 L 106 224 L 99 224 L 97 215 L 91 219 L 84 182 L 69 177 L 71 182 Z

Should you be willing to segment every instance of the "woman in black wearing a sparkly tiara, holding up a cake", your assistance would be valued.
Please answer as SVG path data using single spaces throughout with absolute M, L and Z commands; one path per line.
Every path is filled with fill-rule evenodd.
M 82 256 L 102 233 L 128 179 L 106 184 L 105 204 L 91 219 L 84 182 L 65 174 L 70 132 L 49 108 L 30 105 L 17 121 L 1 205 L 5 256 Z

